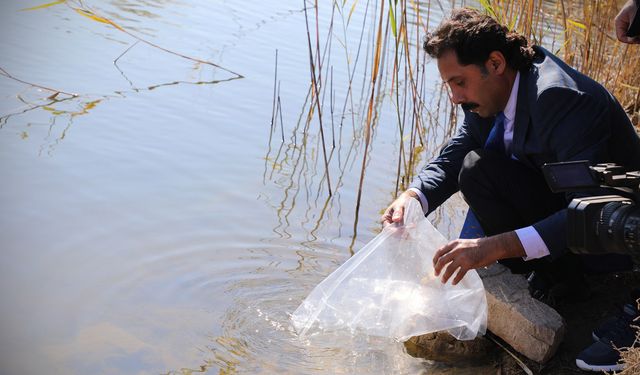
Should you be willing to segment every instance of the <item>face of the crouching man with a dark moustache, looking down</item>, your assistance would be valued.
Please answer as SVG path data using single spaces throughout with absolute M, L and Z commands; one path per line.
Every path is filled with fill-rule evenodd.
M 449 86 L 451 101 L 480 117 L 492 117 L 502 111 L 509 99 L 510 87 L 487 60 L 485 69 L 477 65 L 460 65 L 455 51 L 445 52 L 438 58 L 438 70 Z M 506 97 L 505 97 L 506 91 Z

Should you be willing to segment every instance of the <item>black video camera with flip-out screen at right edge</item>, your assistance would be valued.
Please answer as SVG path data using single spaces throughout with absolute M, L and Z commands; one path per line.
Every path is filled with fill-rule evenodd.
M 551 191 L 578 192 L 601 187 L 620 195 L 587 196 L 571 201 L 567 243 L 579 254 L 623 253 L 640 259 L 640 171 L 611 163 L 548 163 L 542 172 Z

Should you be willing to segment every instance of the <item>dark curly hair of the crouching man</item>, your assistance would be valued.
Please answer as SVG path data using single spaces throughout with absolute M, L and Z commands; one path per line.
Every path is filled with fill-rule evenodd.
M 455 9 L 449 19 L 428 34 L 424 50 L 433 58 L 454 50 L 460 64 L 474 64 L 481 69 L 491 52 L 500 51 L 507 65 L 519 71 L 531 67 L 535 54 L 524 36 L 469 8 Z

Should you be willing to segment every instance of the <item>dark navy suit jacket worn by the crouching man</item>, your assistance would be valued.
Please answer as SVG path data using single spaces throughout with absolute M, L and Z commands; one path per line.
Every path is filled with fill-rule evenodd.
M 533 66 L 520 73 L 512 152 L 540 173 L 544 163 L 589 160 L 640 169 L 640 138 L 617 100 L 600 84 L 541 47 Z M 493 118 L 465 112 L 457 134 L 410 187 L 427 197 L 429 210 L 458 191 L 458 174 L 469 151 L 482 148 Z M 541 177 L 542 178 L 542 177 Z M 567 204 L 573 195 L 567 195 Z M 552 257 L 566 251 L 566 209 L 531 223 Z

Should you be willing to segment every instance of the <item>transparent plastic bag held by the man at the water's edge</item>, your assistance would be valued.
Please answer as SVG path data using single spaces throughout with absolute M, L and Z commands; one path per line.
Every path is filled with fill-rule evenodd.
M 361 331 L 405 341 L 447 330 L 459 340 L 484 334 L 487 300 L 478 273 L 458 285 L 435 277 L 433 255 L 446 239 L 417 200 L 404 224 L 389 225 L 311 291 L 293 313 L 301 337 L 316 331 Z

